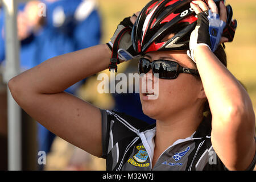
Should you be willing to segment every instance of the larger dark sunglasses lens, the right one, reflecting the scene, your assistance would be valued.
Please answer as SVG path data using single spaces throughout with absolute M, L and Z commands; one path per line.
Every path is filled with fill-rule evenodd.
M 155 61 L 152 65 L 153 72 L 159 74 L 159 78 L 174 78 L 177 73 L 178 64 L 171 61 Z

